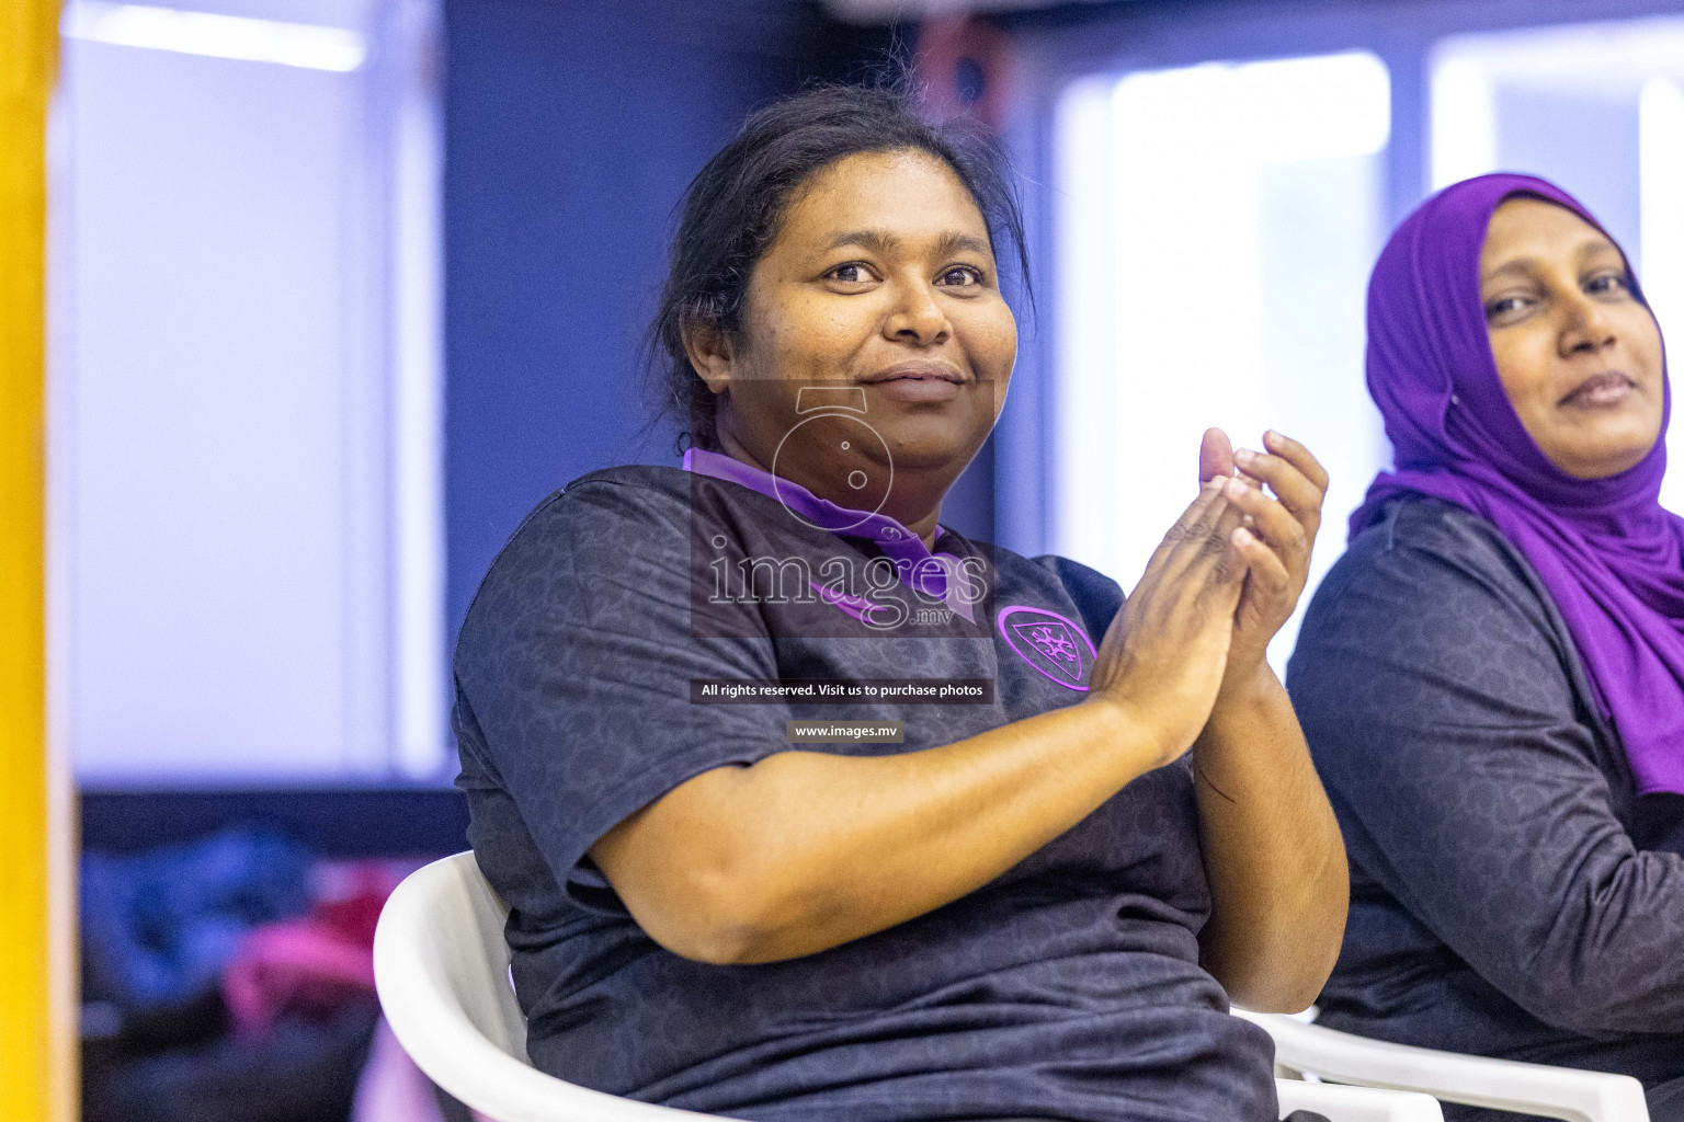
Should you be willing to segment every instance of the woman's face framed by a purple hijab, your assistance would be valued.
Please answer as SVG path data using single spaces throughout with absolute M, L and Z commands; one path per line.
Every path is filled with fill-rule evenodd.
M 1620 249 L 1564 207 L 1511 198 L 1480 254 L 1497 375 L 1539 451 L 1569 476 L 1635 466 L 1660 436 L 1660 330 Z

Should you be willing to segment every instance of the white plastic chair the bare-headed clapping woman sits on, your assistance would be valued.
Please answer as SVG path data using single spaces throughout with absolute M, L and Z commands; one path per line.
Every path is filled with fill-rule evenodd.
M 446 1092 L 497 1122 L 680 1122 L 719 1115 L 564 1083 L 525 1055 L 509 986 L 509 908 L 472 853 L 411 873 L 381 912 L 374 982 L 404 1051 Z M 1282 1112 L 1332 1122 L 1443 1122 L 1430 1095 L 1278 1080 Z

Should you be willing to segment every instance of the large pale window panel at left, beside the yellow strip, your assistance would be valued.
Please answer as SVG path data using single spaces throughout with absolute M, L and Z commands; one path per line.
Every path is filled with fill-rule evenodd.
M 64 10 L 49 589 L 84 784 L 446 767 L 436 10 L 382 12 Z

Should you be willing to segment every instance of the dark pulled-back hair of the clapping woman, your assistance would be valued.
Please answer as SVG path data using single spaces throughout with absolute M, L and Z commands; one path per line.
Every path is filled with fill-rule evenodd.
M 977 200 L 990 241 L 1015 249 L 1019 283 L 1029 293 L 1022 210 L 1005 158 L 980 126 L 921 119 L 904 84 L 818 86 L 765 106 L 690 180 L 650 325 L 660 412 L 685 429 L 690 446 L 717 451 L 719 434 L 716 397 L 684 352 L 684 331 L 741 330 L 749 273 L 813 173 L 857 153 L 901 150 L 926 151 L 953 170 Z

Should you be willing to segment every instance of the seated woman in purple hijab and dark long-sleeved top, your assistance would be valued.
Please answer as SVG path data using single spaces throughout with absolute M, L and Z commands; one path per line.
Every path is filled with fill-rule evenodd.
M 1288 671 L 1351 855 L 1322 1019 L 1625 1072 L 1654 1119 L 1684 1119 L 1684 520 L 1659 503 L 1660 331 L 1596 219 L 1522 175 L 1410 215 L 1367 318 L 1396 469 Z

